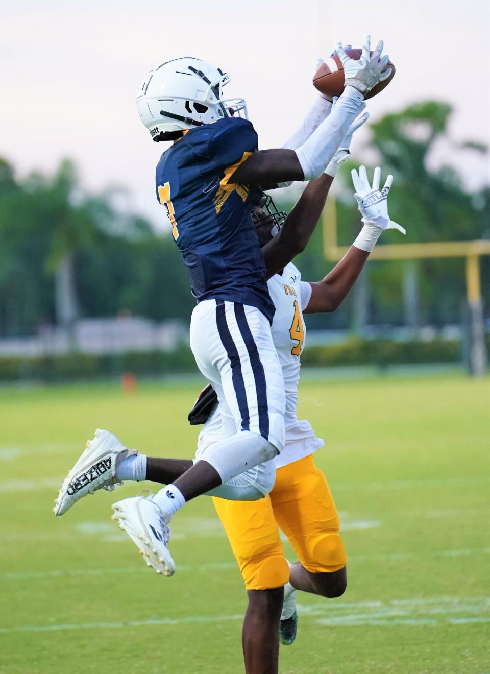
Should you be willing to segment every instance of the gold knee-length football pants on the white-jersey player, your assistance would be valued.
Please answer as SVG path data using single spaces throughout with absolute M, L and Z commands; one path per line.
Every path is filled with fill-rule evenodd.
M 213 501 L 247 590 L 288 582 L 279 528 L 308 571 L 331 573 L 346 565 L 334 499 L 312 455 L 278 468 L 274 488 L 264 499 Z

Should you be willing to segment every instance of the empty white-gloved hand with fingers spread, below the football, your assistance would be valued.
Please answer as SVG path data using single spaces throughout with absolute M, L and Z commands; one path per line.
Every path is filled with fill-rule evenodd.
M 353 168 L 353 183 L 355 187 L 355 197 L 357 206 L 363 222 L 384 229 L 398 229 L 402 234 L 406 234 L 404 228 L 390 220 L 388 215 L 388 193 L 393 183 L 393 176 L 389 175 L 386 179 L 383 189 L 379 189 L 379 179 L 381 178 L 381 168 L 376 166 L 373 175 L 373 184 L 369 184 L 365 166 L 359 166 L 359 174 Z

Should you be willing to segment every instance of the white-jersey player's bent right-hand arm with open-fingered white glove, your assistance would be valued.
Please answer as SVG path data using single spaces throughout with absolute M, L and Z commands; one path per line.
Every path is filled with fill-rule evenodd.
M 392 222 L 388 216 L 387 197 L 393 176 L 388 176 L 381 190 L 379 166 L 374 170 L 372 185 L 369 185 L 365 166 L 359 168 L 359 175 L 354 169 L 352 176 L 356 190 L 355 198 L 363 216 L 364 226 L 353 245 L 332 271 L 323 280 L 310 283 L 311 297 L 303 313 L 326 313 L 338 309 L 361 274 L 381 232 L 385 229 L 398 229 L 405 234 L 404 228 Z

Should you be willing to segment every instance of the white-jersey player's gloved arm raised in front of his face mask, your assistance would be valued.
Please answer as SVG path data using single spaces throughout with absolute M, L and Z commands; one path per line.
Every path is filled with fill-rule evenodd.
M 334 109 L 335 106 L 336 100 L 334 100 Z M 365 104 L 363 104 L 363 107 L 365 107 Z M 332 181 L 337 174 L 338 167 L 350 154 L 349 148 L 353 135 L 367 119 L 369 119 L 369 113 L 365 112 L 348 127 L 347 133 L 325 169 L 324 175 L 308 183 L 299 202 L 286 217 L 279 234 L 262 248 L 267 278 L 274 276 L 293 257 L 296 257 L 305 249 L 321 216 L 330 185 L 332 185 Z

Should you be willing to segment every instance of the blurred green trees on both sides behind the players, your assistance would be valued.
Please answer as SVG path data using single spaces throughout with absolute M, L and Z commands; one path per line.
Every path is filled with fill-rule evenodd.
M 429 101 L 371 123 L 383 175 L 395 177 L 390 216 L 406 227 L 404 241 L 490 236 L 490 187 L 470 193 L 454 168 L 431 169 L 427 162 L 435 142 L 447 137 L 451 112 L 448 104 Z M 464 148 L 487 152 L 470 141 Z M 350 169 L 357 166 L 355 158 L 346 162 L 336 181 L 342 245 L 352 243 L 359 232 L 350 185 Z M 379 245 L 393 243 L 397 235 L 390 235 L 381 237 Z M 317 227 L 308 249 L 295 260 L 303 278 L 319 280 L 332 268 L 321 250 Z M 482 275 L 483 287 L 488 287 L 485 258 Z M 464 298 L 462 259 L 371 262 L 336 313 L 307 322 L 310 328 L 357 333 L 366 324 L 458 324 Z M 94 195 L 82 189 L 69 160 L 54 175 L 35 172 L 20 179 L 0 159 L 0 336 L 25 336 L 43 324 L 66 325 L 78 317 L 121 312 L 188 321 L 193 306 L 185 267 L 169 235 L 137 214 L 121 212 L 111 191 Z

